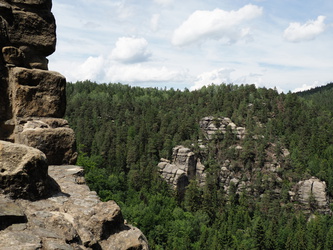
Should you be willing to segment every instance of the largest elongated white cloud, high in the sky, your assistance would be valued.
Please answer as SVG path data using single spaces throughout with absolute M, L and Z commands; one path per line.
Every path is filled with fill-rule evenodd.
M 262 8 L 248 4 L 237 11 L 195 11 L 175 31 L 172 44 L 183 46 L 205 39 L 225 39 L 233 43 L 249 35 L 249 29 L 242 27 L 246 21 L 259 17 Z

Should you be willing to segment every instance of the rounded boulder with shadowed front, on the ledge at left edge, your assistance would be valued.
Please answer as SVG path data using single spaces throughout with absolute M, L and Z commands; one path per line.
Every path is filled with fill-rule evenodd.
M 36 200 L 58 191 L 39 150 L 0 141 L 0 191 L 12 198 Z

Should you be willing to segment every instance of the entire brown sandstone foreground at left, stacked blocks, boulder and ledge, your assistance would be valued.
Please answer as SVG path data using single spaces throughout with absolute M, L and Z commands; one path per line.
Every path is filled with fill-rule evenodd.
M 69 165 L 77 153 L 62 119 L 66 79 L 48 71 L 51 8 L 0 0 L 0 249 L 148 249 L 119 206 L 101 202 Z

